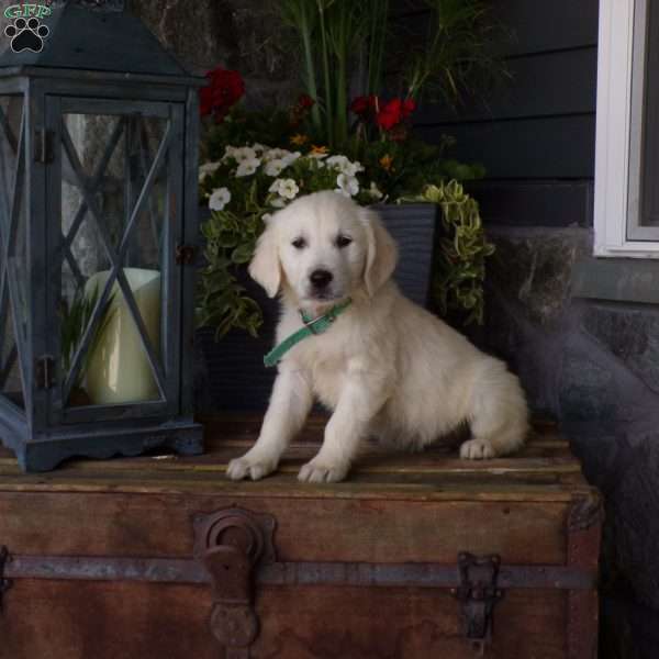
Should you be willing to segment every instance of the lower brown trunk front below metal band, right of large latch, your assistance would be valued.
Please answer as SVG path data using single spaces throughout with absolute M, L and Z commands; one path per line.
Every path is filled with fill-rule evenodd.
M 473 659 L 448 592 L 387 589 L 376 595 L 351 588 L 266 591 L 257 605 L 275 613 L 263 621 L 263 640 L 255 645 L 254 656 Z M 510 591 L 498 605 L 494 616 L 500 624 L 487 656 L 562 658 L 565 596 L 548 591 L 525 595 Z

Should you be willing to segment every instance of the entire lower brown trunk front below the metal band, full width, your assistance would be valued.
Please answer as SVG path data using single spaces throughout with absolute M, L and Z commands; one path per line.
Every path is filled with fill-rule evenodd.
M 506 592 L 488 657 L 565 657 L 565 597 Z M 0 659 L 223 656 L 208 627 L 208 588 L 21 580 L 5 606 Z M 254 659 L 473 658 L 446 590 L 266 588 L 256 610 L 267 614 Z

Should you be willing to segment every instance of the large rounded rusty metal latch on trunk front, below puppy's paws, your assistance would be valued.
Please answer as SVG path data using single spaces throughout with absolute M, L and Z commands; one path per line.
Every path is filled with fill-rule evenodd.
M 211 576 L 211 630 L 231 652 L 247 659 L 259 634 L 254 610 L 254 574 L 275 562 L 272 515 L 231 507 L 194 521 L 194 555 Z M 228 655 L 227 655 L 228 656 Z

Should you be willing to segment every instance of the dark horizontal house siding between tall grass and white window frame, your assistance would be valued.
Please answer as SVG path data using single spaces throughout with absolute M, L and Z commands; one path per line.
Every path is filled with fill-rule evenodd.
M 597 1 L 498 0 L 512 37 L 501 46 L 511 79 L 459 112 L 424 104 L 416 130 L 456 138 L 456 155 L 484 165 L 469 189 L 490 224 L 592 224 Z M 423 13 L 402 21 L 423 23 Z

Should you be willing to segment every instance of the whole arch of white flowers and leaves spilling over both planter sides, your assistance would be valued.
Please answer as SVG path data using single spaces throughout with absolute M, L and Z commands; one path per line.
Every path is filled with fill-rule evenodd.
M 226 146 L 217 160 L 202 165 L 200 171 L 200 193 L 211 217 L 202 224 L 206 265 L 199 282 L 198 323 L 216 327 L 216 337 L 233 327 L 256 336 L 263 314 L 243 284 L 245 266 L 268 215 L 300 194 L 320 190 L 342 190 L 362 205 L 439 204 L 445 237 L 434 286 L 438 304 L 443 312 L 466 310 L 467 322 L 482 322 L 484 259 L 493 248 L 484 238 L 478 204 L 457 182 L 478 178 L 482 167 L 440 157 L 446 146 L 367 143 L 354 152 L 362 160 L 302 155 L 259 143 Z

